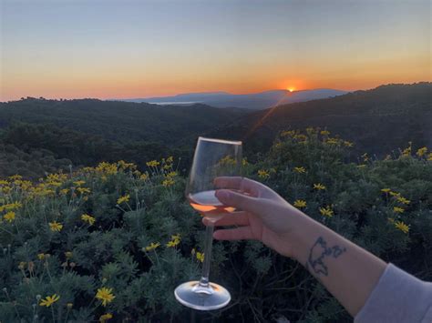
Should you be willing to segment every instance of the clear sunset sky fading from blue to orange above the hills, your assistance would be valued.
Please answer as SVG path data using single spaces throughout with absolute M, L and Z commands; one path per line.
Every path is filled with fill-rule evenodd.
M 0 0 L 0 101 L 431 81 L 431 0 Z

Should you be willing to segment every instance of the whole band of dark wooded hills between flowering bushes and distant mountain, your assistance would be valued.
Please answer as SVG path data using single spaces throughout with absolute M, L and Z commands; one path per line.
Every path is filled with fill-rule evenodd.
M 380 86 L 345 96 L 248 113 L 204 105 L 27 98 L 0 103 L 0 176 L 37 178 L 101 161 L 172 155 L 190 167 L 198 136 L 242 139 L 245 154 L 265 153 L 283 129 L 321 126 L 355 141 L 353 152 L 397 154 L 432 144 L 432 85 Z M 355 154 L 352 156 L 355 156 Z

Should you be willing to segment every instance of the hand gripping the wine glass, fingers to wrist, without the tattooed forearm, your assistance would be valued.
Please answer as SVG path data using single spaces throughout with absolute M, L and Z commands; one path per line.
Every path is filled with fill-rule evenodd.
M 293 228 L 296 218 L 305 217 L 271 188 L 244 177 L 217 177 L 216 197 L 227 207 L 241 209 L 227 213 L 215 226 L 239 226 L 217 230 L 213 237 L 219 240 L 260 240 L 283 256 L 293 257 L 295 239 Z M 204 214 L 205 215 L 205 214 Z M 204 224 L 211 222 L 204 218 Z

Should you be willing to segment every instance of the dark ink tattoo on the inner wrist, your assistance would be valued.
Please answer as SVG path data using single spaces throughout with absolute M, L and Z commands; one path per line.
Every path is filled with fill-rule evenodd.
M 314 246 L 311 247 L 306 267 L 312 267 L 317 275 L 328 276 L 328 267 L 324 264 L 326 257 L 337 258 L 346 251 L 345 247 L 333 246 L 327 247 L 327 242 L 324 237 L 318 237 Z

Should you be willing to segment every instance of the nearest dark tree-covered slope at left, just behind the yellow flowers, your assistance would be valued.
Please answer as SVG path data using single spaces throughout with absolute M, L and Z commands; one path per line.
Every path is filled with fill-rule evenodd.
M 127 159 L 145 167 L 150 158 L 173 155 L 183 169 L 190 149 L 134 141 L 126 144 L 53 125 L 16 123 L 0 136 L 0 177 L 21 174 L 37 179 L 46 172 L 68 171 L 70 167 L 96 165 L 102 161 Z

